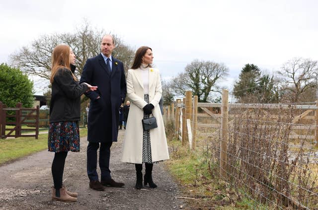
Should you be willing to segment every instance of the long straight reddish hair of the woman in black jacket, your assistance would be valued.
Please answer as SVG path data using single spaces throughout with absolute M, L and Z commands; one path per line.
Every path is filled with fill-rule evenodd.
M 51 66 L 51 77 L 50 77 L 51 84 L 53 83 L 54 76 L 59 69 L 66 68 L 71 71 L 70 51 L 71 51 L 70 46 L 65 44 L 58 45 L 54 48 L 52 53 L 52 66 Z M 72 73 L 72 76 L 75 81 L 78 80 L 73 73 Z

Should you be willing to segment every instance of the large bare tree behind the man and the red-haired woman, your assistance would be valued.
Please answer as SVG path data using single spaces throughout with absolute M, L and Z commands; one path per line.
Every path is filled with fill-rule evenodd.
M 53 49 L 58 44 L 69 45 L 77 57 L 77 71 L 79 76 L 82 68 L 88 58 L 100 53 L 100 42 L 104 30 L 92 29 L 84 21 L 74 33 L 61 33 L 43 35 L 34 40 L 31 46 L 24 46 L 18 52 L 10 56 L 10 63 L 25 71 L 29 75 L 37 75 L 45 79 L 50 78 L 51 74 L 51 56 Z M 124 44 L 124 42 L 115 34 L 115 49 L 112 55 L 124 63 L 125 70 L 131 66 L 134 59 L 134 49 Z

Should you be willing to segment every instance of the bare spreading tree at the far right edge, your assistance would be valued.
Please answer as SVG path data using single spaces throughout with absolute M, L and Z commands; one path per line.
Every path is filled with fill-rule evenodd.
M 294 58 L 286 62 L 277 72 L 284 98 L 289 102 L 300 102 L 308 90 L 317 89 L 318 64 L 310 59 Z

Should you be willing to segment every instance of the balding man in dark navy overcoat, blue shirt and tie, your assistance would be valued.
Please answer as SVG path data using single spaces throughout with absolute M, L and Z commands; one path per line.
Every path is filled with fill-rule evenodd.
M 114 38 L 103 36 L 101 54 L 87 59 L 80 83 L 98 86 L 96 91 L 85 93 L 90 98 L 87 134 L 87 175 L 89 187 L 104 190 L 105 186 L 122 187 L 115 182 L 109 170 L 110 147 L 117 141 L 119 107 L 126 97 L 126 79 L 123 63 L 111 56 Z M 99 148 L 100 182 L 96 171 Z

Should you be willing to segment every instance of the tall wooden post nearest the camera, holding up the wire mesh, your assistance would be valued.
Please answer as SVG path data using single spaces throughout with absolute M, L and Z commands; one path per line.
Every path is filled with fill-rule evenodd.
M 222 90 L 222 122 L 221 122 L 221 143 L 220 143 L 220 177 L 226 178 L 228 132 L 229 132 L 229 91 Z

